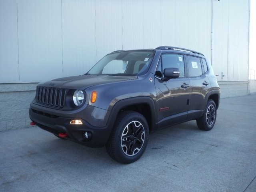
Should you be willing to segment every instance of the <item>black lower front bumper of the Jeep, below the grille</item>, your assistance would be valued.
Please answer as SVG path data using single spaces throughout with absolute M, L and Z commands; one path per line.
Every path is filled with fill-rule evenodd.
M 67 133 L 67 136 L 64 137 L 65 139 L 88 147 L 103 147 L 108 141 L 112 130 L 112 127 L 108 125 L 105 127 L 94 127 L 81 118 L 79 119 L 83 124 L 70 124 L 70 121 L 74 118 L 55 116 L 31 108 L 29 109 L 29 116 L 38 127 L 56 136 L 59 136 L 59 133 Z M 92 134 L 91 140 L 88 141 L 84 138 L 84 132 Z

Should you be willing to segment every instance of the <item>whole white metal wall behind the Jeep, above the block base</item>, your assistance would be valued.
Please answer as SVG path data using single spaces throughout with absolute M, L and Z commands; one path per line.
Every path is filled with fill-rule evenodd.
M 248 22 L 249 0 L 0 0 L 0 83 L 83 74 L 114 50 L 160 45 L 203 52 L 219 80 L 244 81 Z

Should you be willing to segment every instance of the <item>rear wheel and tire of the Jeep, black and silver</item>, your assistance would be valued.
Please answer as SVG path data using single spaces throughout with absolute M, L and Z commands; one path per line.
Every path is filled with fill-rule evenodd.
M 209 99 L 203 116 L 196 120 L 198 128 L 204 131 L 210 131 L 216 122 L 216 116 L 216 104 L 213 100 Z

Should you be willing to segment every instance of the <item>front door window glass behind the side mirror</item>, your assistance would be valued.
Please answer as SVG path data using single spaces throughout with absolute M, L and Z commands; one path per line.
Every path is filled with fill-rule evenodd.
M 180 70 L 180 78 L 185 77 L 183 55 L 162 54 L 156 68 L 156 76 L 162 77 L 165 68 L 178 68 Z

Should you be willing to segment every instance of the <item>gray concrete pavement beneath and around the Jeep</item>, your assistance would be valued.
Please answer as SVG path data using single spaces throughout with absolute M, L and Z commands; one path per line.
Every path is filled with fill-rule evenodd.
M 160 130 L 128 165 L 36 126 L 0 132 L 0 191 L 255 192 L 255 108 L 256 95 L 222 99 L 211 131 Z

